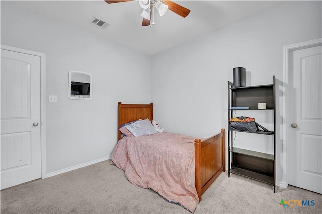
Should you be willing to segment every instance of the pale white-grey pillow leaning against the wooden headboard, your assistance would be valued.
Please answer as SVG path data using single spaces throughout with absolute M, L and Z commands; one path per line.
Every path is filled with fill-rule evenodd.
M 126 125 L 125 127 L 132 133 L 134 137 L 157 133 L 149 119 L 138 120 L 135 123 Z

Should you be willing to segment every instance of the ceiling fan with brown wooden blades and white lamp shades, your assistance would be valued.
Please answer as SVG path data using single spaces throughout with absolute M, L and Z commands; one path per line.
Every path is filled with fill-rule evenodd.
M 105 0 L 106 3 L 119 3 L 119 2 L 129 2 L 134 0 Z M 170 11 L 182 16 L 186 17 L 190 13 L 190 10 L 174 3 L 170 0 L 139 0 L 139 4 L 143 9 L 141 17 L 143 17 L 142 26 L 150 26 L 155 24 L 154 22 L 154 8 L 159 12 L 160 16 L 164 15 L 169 9 Z M 152 16 L 153 15 L 153 16 Z M 151 25 L 152 18 L 152 25 Z

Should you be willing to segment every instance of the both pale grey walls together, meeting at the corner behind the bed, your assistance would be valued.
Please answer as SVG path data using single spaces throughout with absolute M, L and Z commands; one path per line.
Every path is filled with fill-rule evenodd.
M 118 101 L 154 102 L 154 118 L 166 131 L 208 137 L 227 128 L 232 69 L 250 72 L 247 85 L 272 84 L 273 75 L 282 84 L 282 47 L 321 37 L 321 14 L 320 1 L 293 1 L 149 57 L 1 1 L 1 44 L 46 54 L 47 173 L 53 173 L 111 155 Z M 71 70 L 93 75 L 91 101 L 68 99 Z M 49 103 L 49 95 L 57 95 L 58 102 Z M 261 122 L 270 115 L 255 116 L 270 128 Z M 269 140 L 261 144 L 252 138 L 247 146 L 272 152 Z M 279 164 L 277 174 L 281 180 Z

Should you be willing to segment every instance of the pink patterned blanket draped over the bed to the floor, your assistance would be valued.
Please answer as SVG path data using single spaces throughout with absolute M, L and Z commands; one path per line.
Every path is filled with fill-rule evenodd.
M 199 202 L 194 139 L 168 132 L 124 137 L 110 163 L 123 169 L 132 184 L 153 189 L 169 202 L 194 212 Z

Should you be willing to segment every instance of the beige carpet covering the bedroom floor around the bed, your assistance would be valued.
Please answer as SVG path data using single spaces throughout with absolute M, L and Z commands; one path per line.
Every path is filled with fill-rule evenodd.
M 1 213 L 186 213 L 155 192 L 134 186 L 108 161 L 2 190 Z M 281 199 L 314 200 L 286 206 Z M 290 186 L 273 187 L 222 173 L 203 194 L 194 213 L 321 213 L 322 195 Z M 310 203 L 311 204 L 311 203 Z

